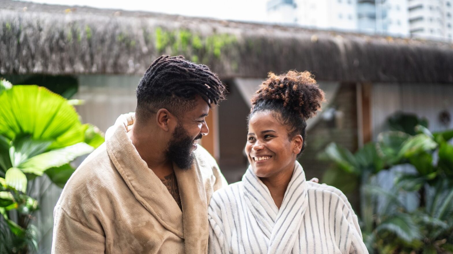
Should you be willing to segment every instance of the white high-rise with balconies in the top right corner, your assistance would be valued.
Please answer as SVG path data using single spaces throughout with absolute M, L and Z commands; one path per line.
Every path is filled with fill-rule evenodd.
M 409 0 L 411 36 L 451 41 L 452 3 L 453 0 Z

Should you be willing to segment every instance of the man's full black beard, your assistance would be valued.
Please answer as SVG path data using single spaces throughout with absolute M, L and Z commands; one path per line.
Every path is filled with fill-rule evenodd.
M 167 158 L 173 161 L 180 169 L 190 169 L 195 161 L 195 153 L 192 152 L 193 141 L 201 139 L 201 137 L 202 134 L 200 133 L 193 139 L 183 126 L 176 126 L 167 149 Z

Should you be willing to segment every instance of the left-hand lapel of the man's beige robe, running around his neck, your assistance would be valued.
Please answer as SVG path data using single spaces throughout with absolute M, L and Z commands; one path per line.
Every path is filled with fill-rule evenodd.
M 126 134 L 133 123 L 134 114 L 124 114 L 107 130 L 107 153 L 135 198 L 162 226 L 178 237 L 184 238 L 181 209 L 161 180 L 141 159 Z

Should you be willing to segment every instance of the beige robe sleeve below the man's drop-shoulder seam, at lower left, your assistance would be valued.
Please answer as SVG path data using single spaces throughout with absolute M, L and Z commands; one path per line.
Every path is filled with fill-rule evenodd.
M 105 252 L 105 235 L 73 219 L 61 207 L 55 207 L 52 254 Z

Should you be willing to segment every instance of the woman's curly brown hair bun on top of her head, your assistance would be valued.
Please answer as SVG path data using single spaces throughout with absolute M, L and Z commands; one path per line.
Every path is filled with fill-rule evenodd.
M 260 101 L 281 101 L 284 108 L 298 112 L 308 119 L 316 114 L 324 101 L 324 92 L 308 71 L 288 71 L 282 75 L 270 72 L 255 96 L 252 107 Z

